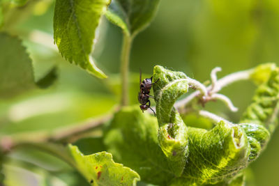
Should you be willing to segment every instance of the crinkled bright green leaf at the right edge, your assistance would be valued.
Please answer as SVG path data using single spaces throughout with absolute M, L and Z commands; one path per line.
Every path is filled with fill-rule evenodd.
M 259 65 L 252 79 L 261 84 L 240 121 L 251 146 L 250 161 L 255 160 L 264 150 L 278 125 L 279 68 L 272 63 Z

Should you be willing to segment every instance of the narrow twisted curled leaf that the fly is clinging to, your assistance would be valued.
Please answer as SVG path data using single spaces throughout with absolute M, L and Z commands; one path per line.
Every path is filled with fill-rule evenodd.
M 188 130 L 183 120 L 174 109 L 174 102 L 188 92 L 188 77 L 183 72 L 172 72 L 161 66 L 153 70 L 154 97 L 158 124 L 158 141 L 172 165 L 176 176 L 181 173 L 188 155 Z

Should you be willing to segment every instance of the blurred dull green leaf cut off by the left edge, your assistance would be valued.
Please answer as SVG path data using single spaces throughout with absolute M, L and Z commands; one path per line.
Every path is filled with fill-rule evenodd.
M 32 61 L 22 40 L 0 33 L 0 98 L 10 98 L 31 88 L 36 88 L 33 77 Z M 38 82 L 46 88 L 56 79 L 55 70 Z M 42 86 L 44 84 L 44 86 Z

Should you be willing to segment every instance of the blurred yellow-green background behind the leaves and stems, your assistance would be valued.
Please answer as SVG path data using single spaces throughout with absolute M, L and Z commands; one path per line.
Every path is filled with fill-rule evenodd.
M 52 132 L 60 127 L 78 125 L 87 118 L 112 111 L 119 102 L 121 30 L 103 19 L 93 56 L 109 78 L 99 80 L 61 59 L 52 39 L 53 14 L 52 0 L 29 1 L 26 6 L 15 8 L 6 20 L 4 30 L 24 40 L 34 62 L 35 77 L 38 79 L 53 65 L 59 65 L 59 79 L 46 91 L 34 90 L 13 99 L 0 100 L 0 135 Z M 218 73 L 218 77 L 223 77 L 259 63 L 279 65 L 278 48 L 278 0 L 162 0 L 155 20 L 133 42 L 130 103 L 137 103 L 140 68 L 144 77 L 151 76 L 154 65 L 163 65 L 205 82 L 216 66 L 223 68 Z M 205 109 L 237 122 L 254 90 L 251 82 L 224 88 L 222 93 L 239 107 L 237 113 L 231 113 L 220 102 L 209 103 Z M 279 148 L 276 144 L 279 144 L 278 128 L 264 153 L 251 164 L 257 186 L 278 185 Z M 17 167 L 17 164 L 33 163 L 34 159 L 41 157 L 44 161 L 36 160 L 37 164 L 44 168 L 48 166 L 45 169 L 52 172 L 56 169 L 55 164 L 42 165 L 46 155 L 15 152 L 12 156 L 16 161 L 10 161 L 4 169 L 10 182 L 13 174 L 19 173 L 31 175 L 30 179 L 37 180 L 38 185 L 63 185 L 63 180 L 70 178 L 61 173 L 59 178 L 46 182 L 52 173 L 38 171 L 38 168 L 24 172 Z M 61 167 L 69 169 L 65 165 Z M 36 172 L 39 177 L 31 172 Z M 70 181 L 65 183 L 70 184 Z

